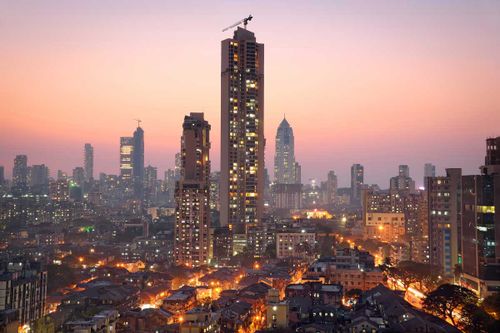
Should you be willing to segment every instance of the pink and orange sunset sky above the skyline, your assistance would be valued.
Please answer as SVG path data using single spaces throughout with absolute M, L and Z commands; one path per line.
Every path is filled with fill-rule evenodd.
M 205 112 L 220 164 L 222 28 L 252 14 L 265 44 L 266 165 L 286 114 L 303 182 L 352 163 L 388 187 L 398 164 L 477 173 L 500 135 L 500 1 L 0 0 L 0 165 L 55 176 L 95 150 L 118 173 L 135 118 L 145 162 L 173 167 L 181 125 Z

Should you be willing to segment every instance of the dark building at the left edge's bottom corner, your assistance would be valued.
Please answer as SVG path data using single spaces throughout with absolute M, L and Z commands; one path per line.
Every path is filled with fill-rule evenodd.
M 0 291 L 0 312 L 16 310 L 21 326 L 45 315 L 47 272 L 40 263 L 2 263 Z

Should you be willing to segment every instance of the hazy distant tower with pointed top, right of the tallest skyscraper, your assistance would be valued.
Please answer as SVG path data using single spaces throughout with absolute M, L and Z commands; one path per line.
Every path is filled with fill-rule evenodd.
M 275 183 L 295 184 L 295 148 L 293 129 L 283 118 L 276 132 L 276 152 L 274 155 Z

